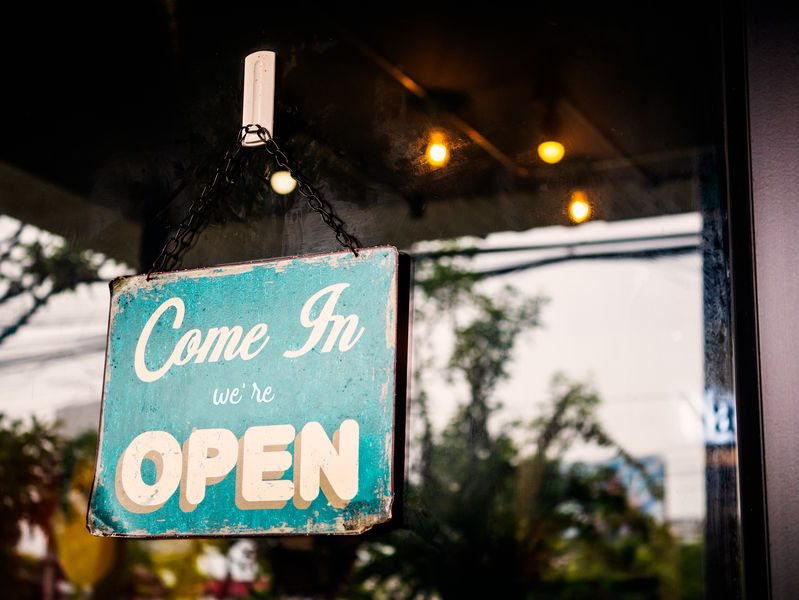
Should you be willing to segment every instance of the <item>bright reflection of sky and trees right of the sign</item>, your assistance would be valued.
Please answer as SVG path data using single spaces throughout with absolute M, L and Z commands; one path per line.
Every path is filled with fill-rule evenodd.
M 405 597 L 701 588 L 700 231 L 688 214 L 419 248 L 412 525 L 362 577 L 402 572 Z

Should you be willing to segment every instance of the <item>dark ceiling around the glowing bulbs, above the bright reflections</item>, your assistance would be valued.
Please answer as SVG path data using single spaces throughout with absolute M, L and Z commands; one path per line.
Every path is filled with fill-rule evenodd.
M 696 3 L 701 4 L 701 3 Z M 717 7 L 164 0 L 4 22 L 0 212 L 146 265 L 241 121 L 244 57 L 277 54 L 275 139 L 364 244 L 696 210 L 718 148 Z M 430 132 L 446 166 L 423 158 Z M 566 157 L 546 165 L 545 134 Z M 188 263 L 335 245 L 247 177 Z

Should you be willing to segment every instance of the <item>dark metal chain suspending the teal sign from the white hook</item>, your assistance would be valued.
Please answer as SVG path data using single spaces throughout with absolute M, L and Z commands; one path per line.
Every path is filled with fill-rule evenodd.
M 297 182 L 297 190 L 306 198 L 311 210 L 319 214 L 322 221 L 335 232 L 339 244 L 358 256 L 360 242 L 345 231 L 344 221 L 336 216 L 330 204 L 305 182 L 296 169 L 290 166 L 288 157 L 271 134 L 260 125 L 246 125 L 239 130 L 236 141 L 225 152 L 222 164 L 216 169 L 211 183 L 203 186 L 199 198 L 191 203 L 189 212 L 178 226 L 175 235 L 164 244 L 158 257 L 153 261 L 150 270 L 147 271 L 148 281 L 157 272 L 174 271 L 181 267 L 184 255 L 197 243 L 200 233 L 208 224 L 211 211 L 230 193 L 249 163 L 252 155 L 244 152 L 245 146 L 242 142 L 244 137 L 251 133 L 256 134 L 264 142 L 264 148 L 274 157 L 275 162 L 286 169 Z

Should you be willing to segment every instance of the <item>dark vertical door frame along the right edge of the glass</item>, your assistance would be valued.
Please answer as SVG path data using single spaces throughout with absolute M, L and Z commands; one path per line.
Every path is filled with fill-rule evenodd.
M 725 158 L 746 597 L 799 589 L 799 11 L 725 3 Z

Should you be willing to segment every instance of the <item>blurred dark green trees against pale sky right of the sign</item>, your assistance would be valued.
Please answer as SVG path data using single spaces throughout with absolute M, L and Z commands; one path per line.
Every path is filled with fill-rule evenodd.
M 527 444 L 492 427 L 497 384 L 508 377 L 520 334 L 539 325 L 541 298 L 512 288 L 489 296 L 453 262 L 417 270 L 424 308 L 416 319 L 452 320 L 447 371 L 468 400 L 440 433 L 416 393 L 419 472 L 409 483 L 407 524 L 375 536 L 353 588 L 370 598 L 671 598 L 675 545 L 664 524 L 633 507 L 610 466 L 563 461 L 575 442 L 608 450 L 638 469 L 596 417 L 599 397 L 563 376 L 529 427 Z M 431 310 L 430 307 L 433 307 Z M 420 328 L 416 329 L 419 332 Z M 416 341 L 416 338 L 415 340 Z M 421 369 L 430 368 L 422 359 Z M 416 379 L 419 382 L 419 378 Z

